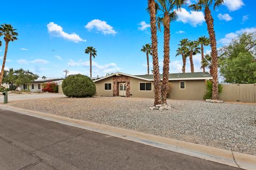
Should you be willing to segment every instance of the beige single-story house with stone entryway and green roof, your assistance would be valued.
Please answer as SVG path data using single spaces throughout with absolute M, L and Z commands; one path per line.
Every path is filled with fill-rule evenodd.
M 162 79 L 163 75 L 161 75 Z M 205 81 L 212 76 L 205 72 L 169 74 L 171 99 L 202 100 Z M 154 75 L 129 75 L 114 73 L 94 80 L 95 96 L 125 96 L 154 98 Z

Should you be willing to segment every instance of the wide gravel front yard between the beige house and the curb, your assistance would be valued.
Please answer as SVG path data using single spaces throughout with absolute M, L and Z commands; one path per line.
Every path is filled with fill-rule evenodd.
M 153 101 L 60 97 L 8 105 L 256 155 L 255 104 L 168 100 L 172 109 L 161 112 L 149 109 Z

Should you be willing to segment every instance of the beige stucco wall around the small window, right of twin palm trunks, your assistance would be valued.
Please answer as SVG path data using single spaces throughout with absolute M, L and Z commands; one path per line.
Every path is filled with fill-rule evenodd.
M 186 89 L 180 89 L 180 81 L 170 81 L 172 92 L 171 99 L 178 100 L 203 100 L 205 80 L 185 80 Z

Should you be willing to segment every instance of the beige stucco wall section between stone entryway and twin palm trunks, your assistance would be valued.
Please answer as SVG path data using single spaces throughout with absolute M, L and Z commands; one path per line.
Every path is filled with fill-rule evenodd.
M 152 90 L 151 91 L 140 91 L 140 82 L 151 82 Z M 154 83 L 153 81 L 145 81 L 141 79 L 131 78 L 131 97 L 142 97 L 142 98 L 154 98 Z

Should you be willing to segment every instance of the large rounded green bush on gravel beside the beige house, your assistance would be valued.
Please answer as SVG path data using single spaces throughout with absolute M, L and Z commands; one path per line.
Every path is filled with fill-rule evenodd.
M 62 82 L 63 94 L 67 97 L 92 97 L 96 87 L 91 78 L 82 75 L 69 75 Z

